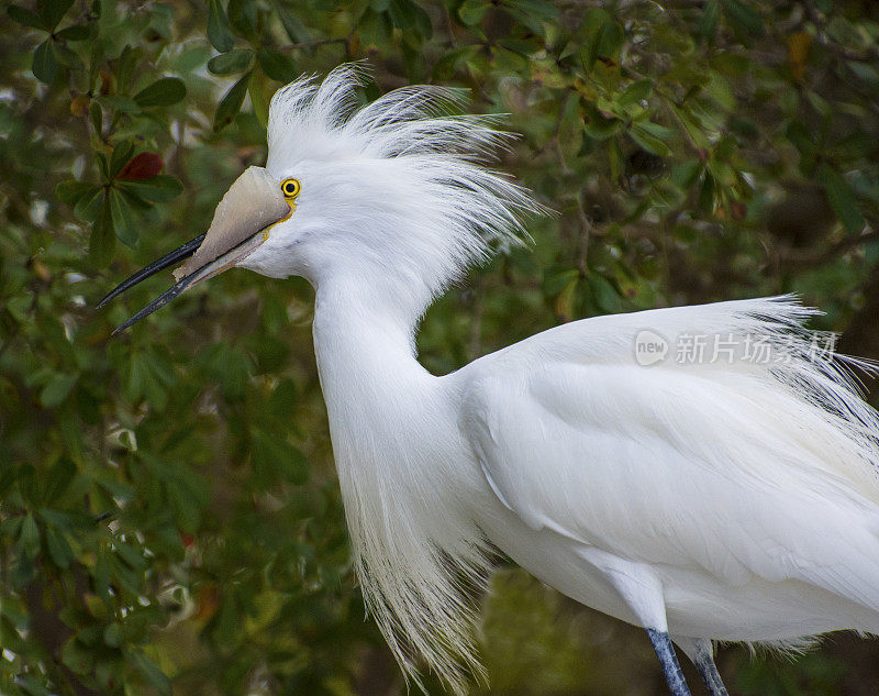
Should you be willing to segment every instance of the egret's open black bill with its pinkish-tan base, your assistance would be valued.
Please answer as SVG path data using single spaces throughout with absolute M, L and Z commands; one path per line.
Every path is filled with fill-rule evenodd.
M 142 280 L 180 261 L 177 283 L 113 331 L 124 331 L 199 283 L 236 266 L 268 239 L 269 228 L 287 220 L 296 209 L 281 194 L 278 181 L 262 167 L 249 167 L 223 196 L 208 232 L 177 247 L 123 280 L 98 307 Z

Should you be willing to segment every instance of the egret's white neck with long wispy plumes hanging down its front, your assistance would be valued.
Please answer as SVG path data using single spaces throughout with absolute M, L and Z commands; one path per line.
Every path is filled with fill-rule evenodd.
M 489 574 L 487 543 L 464 500 L 480 483 L 455 400 L 415 358 L 421 310 L 348 277 L 318 285 L 314 347 L 367 606 L 397 659 L 415 654 L 464 693 L 472 658 L 468 589 Z M 458 459 L 460 457 L 460 459 Z M 464 658 L 465 663 L 461 663 Z

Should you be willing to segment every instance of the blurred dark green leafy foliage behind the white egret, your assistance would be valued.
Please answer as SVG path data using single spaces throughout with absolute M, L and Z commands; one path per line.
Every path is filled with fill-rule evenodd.
M 207 229 L 302 73 L 367 58 L 365 100 L 469 88 L 522 134 L 499 166 L 558 212 L 431 309 L 436 373 L 581 317 L 788 291 L 879 357 L 874 0 L 23 0 L 0 16 L 4 696 L 407 693 L 351 573 L 308 285 L 229 273 L 114 340 L 170 277 L 92 309 Z M 474 694 L 666 693 L 641 630 L 512 566 L 483 604 L 491 685 Z M 879 693 L 879 643 L 854 636 L 719 664 L 733 694 Z

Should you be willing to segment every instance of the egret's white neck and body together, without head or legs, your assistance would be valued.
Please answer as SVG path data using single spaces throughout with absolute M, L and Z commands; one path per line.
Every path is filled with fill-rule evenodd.
M 492 546 L 589 607 L 665 625 L 682 647 L 879 632 L 879 480 L 865 452 L 771 366 L 634 358 L 650 327 L 750 332 L 805 361 L 808 312 L 791 299 L 576 321 L 433 376 L 412 327 L 352 297 L 331 309 L 319 292 L 314 322 L 345 508 L 365 587 L 387 603 L 374 615 L 404 612 L 404 634 L 422 634 L 437 667 L 454 674 L 454 654 L 432 640 L 454 636 L 466 652 L 472 619 L 442 564 L 467 557 L 485 578 Z M 848 388 L 824 382 L 828 364 L 788 367 Z M 394 606 L 382 583 L 401 578 L 418 595 Z M 426 596 L 438 612 L 412 614 Z

